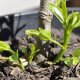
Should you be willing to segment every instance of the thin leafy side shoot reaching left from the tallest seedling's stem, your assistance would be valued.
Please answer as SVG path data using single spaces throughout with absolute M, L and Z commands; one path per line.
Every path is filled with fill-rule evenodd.
M 50 41 L 50 42 L 53 42 L 53 43 L 59 45 L 61 48 L 64 48 L 59 42 L 52 39 L 51 32 L 48 30 L 44 30 L 42 28 L 39 28 L 38 30 L 32 30 L 32 29 L 29 30 L 28 29 L 25 31 L 25 34 L 28 36 L 37 36 L 42 41 Z

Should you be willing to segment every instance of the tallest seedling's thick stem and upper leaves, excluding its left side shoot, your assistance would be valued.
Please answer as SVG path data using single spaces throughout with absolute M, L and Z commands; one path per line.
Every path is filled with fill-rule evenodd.
M 66 52 L 72 30 L 80 26 L 80 12 L 72 12 L 68 14 L 66 0 L 61 0 L 61 2 L 59 2 L 59 6 L 50 3 L 49 9 L 62 23 L 64 29 L 63 35 L 64 49 L 62 48 L 58 53 L 57 57 L 53 61 L 55 63 L 58 62 L 62 58 L 63 54 Z

